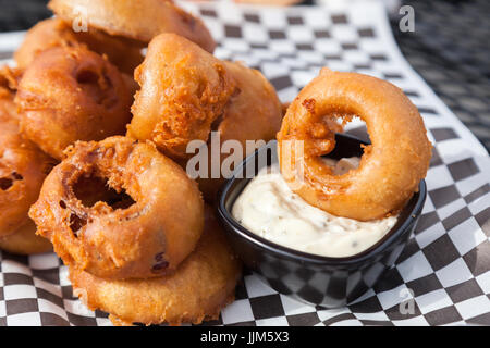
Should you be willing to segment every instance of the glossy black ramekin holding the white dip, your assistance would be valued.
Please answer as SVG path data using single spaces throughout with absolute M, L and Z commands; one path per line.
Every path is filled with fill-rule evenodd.
M 362 144 L 355 137 L 338 135 L 335 149 L 329 157 L 362 156 Z M 258 161 L 260 156 L 266 156 L 267 163 Z M 256 175 L 261 166 L 277 161 L 277 142 L 271 141 L 248 157 L 221 188 L 217 210 L 232 247 L 246 266 L 281 294 L 327 308 L 353 302 L 394 264 L 407 244 L 426 200 L 425 182 L 420 182 L 418 192 L 400 213 L 395 226 L 380 241 L 352 257 L 327 258 L 269 241 L 240 225 L 231 214 L 236 198 L 252 179 L 245 173 Z

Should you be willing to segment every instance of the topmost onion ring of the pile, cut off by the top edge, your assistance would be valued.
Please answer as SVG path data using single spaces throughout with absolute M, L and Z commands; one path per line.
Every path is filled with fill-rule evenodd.
M 201 20 L 167 0 L 51 0 L 48 7 L 71 23 L 84 15 L 89 27 L 149 42 L 161 33 L 174 33 L 208 52 L 216 44 Z M 77 9 L 84 9 L 81 14 Z

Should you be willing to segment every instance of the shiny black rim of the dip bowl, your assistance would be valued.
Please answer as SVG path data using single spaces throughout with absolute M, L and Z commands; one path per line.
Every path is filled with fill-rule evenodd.
M 368 144 L 368 142 L 363 141 L 362 139 L 359 139 L 355 136 L 348 135 L 348 134 L 338 134 L 338 136 L 351 138 L 352 140 L 356 140 L 360 144 Z M 216 203 L 216 210 L 218 212 L 219 219 L 225 225 L 232 227 L 229 229 L 233 229 L 233 233 L 240 235 L 242 238 L 247 239 L 249 243 L 260 247 L 261 249 L 266 249 L 269 252 L 278 254 L 282 258 L 294 259 L 294 260 L 303 262 L 303 263 L 308 262 L 308 263 L 318 264 L 318 265 L 332 265 L 332 266 L 345 265 L 346 266 L 346 265 L 366 262 L 367 260 L 375 258 L 377 254 L 382 253 L 391 245 L 393 245 L 396 240 L 399 240 L 405 233 L 408 233 L 411 231 L 411 228 L 409 228 L 411 225 L 415 224 L 417 222 L 417 220 L 422 211 L 424 203 L 425 203 L 426 197 L 427 197 L 427 185 L 426 185 L 425 179 L 421 179 L 418 185 L 418 192 L 415 192 L 415 195 L 418 196 L 416 198 L 417 200 L 414 204 L 414 208 L 407 214 L 407 217 L 405 219 L 405 221 L 403 221 L 402 224 L 400 224 L 400 225 L 399 225 L 399 223 L 396 223 L 392 227 L 392 229 L 390 229 L 380 240 L 378 240 L 376 244 L 373 244 L 368 249 L 360 251 L 353 256 L 335 258 L 335 257 L 326 257 L 326 256 L 309 253 L 309 252 L 305 252 L 305 251 L 301 251 L 301 250 L 296 250 L 293 248 L 289 248 L 289 247 L 279 245 L 274 241 L 271 241 L 269 239 L 266 239 L 266 238 L 253 233 L 248 228 L 241 225 L 233 217 L 231 211 L 229 211 L 226 209 L 226 207 L 225 207 L 226 206 L 226 197 L 228 197 L 230 189 L 235 181 L 246 179 L 246 178 L 237 178 L 236 174 L 242 172 L 243 169 L 247 165 L 247 163 L 249 161 L 255 160 L 255 158 L 257 157 L 257 154 L 259 152 L 267 151 L 268 148 L 272 148 L 271 144 L 273 144 L 273 142 L 274 141 L 267 142 L 265 146 L 260 147 L 254 153 L 252 153 L 247 158 L 245 158 L 245 160 L 243 160 L 242 163 L 233 171 L 232 176 L 225 181 L 223 186 L 218 191 L 218 200 Z M 273 149 L 273 151 L 277 151 L 277 149 Z M 414 197 L 412 199 L 414 199 Z

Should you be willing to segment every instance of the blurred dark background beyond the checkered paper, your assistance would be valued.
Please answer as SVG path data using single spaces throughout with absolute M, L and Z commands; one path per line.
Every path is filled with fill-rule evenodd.
M 0 32 L 24 30 L 51 15 L 48 0 L 0 0 Z M 311 4 L 315 1 L 303 1 Z M 490 151 L 490 1 L 402 0 L 415 32 L 393 35 L 412 66 Z

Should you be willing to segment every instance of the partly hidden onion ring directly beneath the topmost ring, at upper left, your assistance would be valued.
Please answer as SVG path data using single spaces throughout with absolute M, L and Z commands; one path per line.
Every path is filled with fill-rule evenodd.
M 99 54 L 107 54 L 112 64 L 131 75 L 143 61 L 140 42 L 110 36 L 95 28 L 76 33 L 70 23 L 58 17 L 41 21 L 30 28 L 14 53 L 14 60 L 20 69 L 25 70 L 40 52 L 47 49 L 76 46 L 83 46 Z

